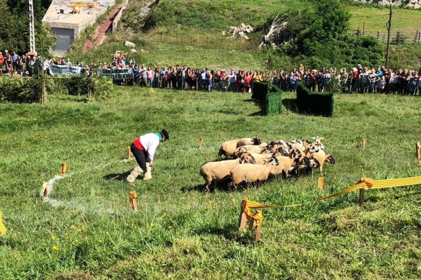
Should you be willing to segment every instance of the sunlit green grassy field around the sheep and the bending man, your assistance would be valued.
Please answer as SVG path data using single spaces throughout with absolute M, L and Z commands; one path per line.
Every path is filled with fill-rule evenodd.
M 0 104 L 0 279 L 420 279 L 420 186 L 263 210 L 262 241 L 238 231 L 240 202 L 285 205 L 373 179 L 420 176 L 420 97 L 337 95 L 333 118 L 259 116 L 249 94 L 117 88 L 118 97 L 48 96 L 46 105 Z M 285 104 L 294 95 L 284 95 Z M 126 148 L 165 128 L 149 182 L 129 171 Z M 336 165 L 317 177 L 275 178 L 259 188 L 202 191 L 202 164 L 224 140 L 325 138 Z M 205 139 L 198 149 L 199 139 Z M 362 138 L 367 138 L 365 149 Z M 52 201 L 41 185 L 68 164 Z M 139 212 L 128 205 L 139 196 Z

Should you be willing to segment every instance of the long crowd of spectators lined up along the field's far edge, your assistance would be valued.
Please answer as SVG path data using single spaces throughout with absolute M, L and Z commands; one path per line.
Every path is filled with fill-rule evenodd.
M 172 66 L 153 67 L 139 65 L 135 59 L 126 58 L 123 54 L 113 55 L 110 63 L 92 62 L 84 65 L 77 61 L 75 65 L 69 58 L 45 59 L 42 61 L 37 56 L 22 55 L 15 52 L 10 54 L 7 50 L 4 55 L 0 52 L 0 75 L 21 75 L 32 76 L 34 71 L 40 66 L 43 70 L 48 70 L 51 64 L 63 66 L 79 66 L 82 73 L 92 75 L 96 69 L 132 68 L 133 79 L 115 80 L 118 85 L 176 89 L 176 90 L 196 90 L 196 91 L 226 91 L 238 93 L 251 93 L 254 82 L 268 82 L 279 87 L 282 91 L 294 92 L 297 84 L 303 81 L 305 86 L 317 92 L 337 92 L 342 93 L 390 93 L 404 95 L 421 95 L 421 68 L 420 70 L 394 70 L 386 69 L 384 65 L 370 65 L 364 67 L 359 64 L 354 68 L 336 68 L 311 70 L 301 64 L 297 69 L 286 72 L 281 69 L 279 72 L 244 71 L 231 69 L 217 71 L 208 68 L 193 69 L 191 67 L 178 64 Z M 20 73 L 20 74 L 18 74 Z

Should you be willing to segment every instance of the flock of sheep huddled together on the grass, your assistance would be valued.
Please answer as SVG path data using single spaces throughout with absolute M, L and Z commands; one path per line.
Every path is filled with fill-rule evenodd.
M 288 177 L 291 173 L 313 172 L 316 167 L 322 173 L 323 163 L 335 164 L 335 160 L 326 154 L 322 137 L 316 136 L 313 140 L 262 143 L 262 138 L 243 138 L 223 142 L 217 161 L 204 164 L 200 170 L 205 179 L 204 187 L 210 191 L 212 182 L 228 182 L 228 186 L 261 183 L 269 176 Z M 222 155 L 226 160 L 220 161 Z

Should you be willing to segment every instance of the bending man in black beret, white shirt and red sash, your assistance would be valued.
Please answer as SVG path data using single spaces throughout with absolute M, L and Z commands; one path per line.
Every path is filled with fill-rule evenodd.
M 127 183 L 134 186 L 136 178 L 145 172 L 144 181 L 152 179 L 151 168 L 154 166 L 154 155 L 159 142 L 169 140 L 166 130 L 156 133 L 148 133 L 136 138 L 130 146 L 130 151 L 135 157 L 138 166 L 127 176 Z

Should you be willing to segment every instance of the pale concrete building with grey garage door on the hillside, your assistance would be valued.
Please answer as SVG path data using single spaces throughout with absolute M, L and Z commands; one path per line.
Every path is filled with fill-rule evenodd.
M 64 54 L 82 31 L 114 4 L 114 0 L 53 0 L 43 18 L 57 35 L 54 55 Z

